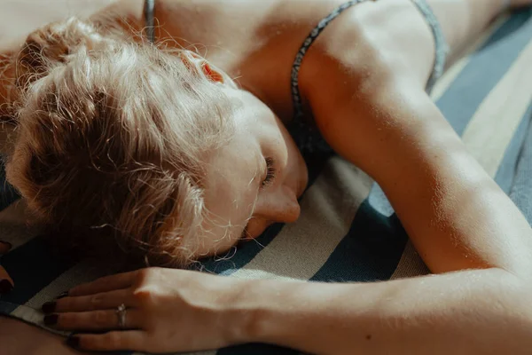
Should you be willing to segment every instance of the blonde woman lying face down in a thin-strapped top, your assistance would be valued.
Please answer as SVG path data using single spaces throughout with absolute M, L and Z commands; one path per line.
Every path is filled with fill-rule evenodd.
M 113 231 L 140 256 L 186 264 L 298 217 L 307 174 L 285 122 L 303 151 L 321 149 L 320 138 L 301 133 L 315 123 L 334 151 L 379 182 L 442 275 L 325 285 L 151 268 L 69 290 L 43 306 L 46 324 L 111 330 L 69 339 L 87 350 L 527 349 L 530 226 L 425 92 L 442 67 L 442 38 L 452 58 L 505 4 L 433 0 L 435 18 L 424 2 L 334 11 L 341 4 L 158 1 L 156 41 L 215 44 L 208 61 L 78 20 L 35 32 L 8 91 L 18 125 L 8 178 L 45 223 L 93 227 L 104 232 L 90 234 L 98 243 Z M 291 72 L 292 88 L 284 84 Z

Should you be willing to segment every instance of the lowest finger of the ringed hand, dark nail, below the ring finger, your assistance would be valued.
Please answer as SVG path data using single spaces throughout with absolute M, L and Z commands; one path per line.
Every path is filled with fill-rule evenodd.
M 114 331 L 106 334 L 71 336 L 66 343 L 73 348 L 91 351 L 147 351 L 148 336 L 142 330 Z

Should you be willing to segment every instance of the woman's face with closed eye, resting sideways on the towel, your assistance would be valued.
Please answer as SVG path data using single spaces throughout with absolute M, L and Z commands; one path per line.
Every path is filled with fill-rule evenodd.
M 196 256 L 220 255 L 273 223 L 295 221 L 308 184 L 307 166 L 285 125 L 249 92 L 227 91 L 241 102 L 236 132 L 207 167 L 205 233 L 190 246 Z

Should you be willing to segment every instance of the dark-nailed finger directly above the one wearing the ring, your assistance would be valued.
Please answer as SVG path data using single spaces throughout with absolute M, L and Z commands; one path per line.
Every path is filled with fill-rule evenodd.
M 90 296 L 67 296 L 54 302 L 43 304 L 43 312 L 63 313 L 114 310 L 121 304 L 125 304 L 127 307 L 137 306 L 129 288 L 117 289 Z

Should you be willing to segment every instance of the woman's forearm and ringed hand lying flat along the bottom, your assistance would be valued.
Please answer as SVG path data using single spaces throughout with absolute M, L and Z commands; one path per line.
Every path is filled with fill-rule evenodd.
M 532 346 L 529 282 L 500 269 L 378 283 L 239 280 L 151 268 L 45 304 L 50 327 L 96 351 L 200 351 L 275 343 L 317 354 L 521 354 Z M 125 304 L 125 330 L 116 307 Z M 129 328 L 135 330 L 127 330 Z

